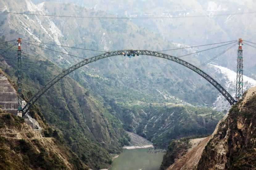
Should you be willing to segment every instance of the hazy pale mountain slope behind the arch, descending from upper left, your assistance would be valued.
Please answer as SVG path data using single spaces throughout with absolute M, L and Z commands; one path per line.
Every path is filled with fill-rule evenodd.
M 89 10 L 73 4 L 43 2 L 36 6 L 31 3 L 29 0 L 24 1 L 22 9 L 17 9 L 11 3 L 8 5 L 7 2 L 3 1 L 0 4 L 0 8 L 2 10 L 7 8 L 7 11 L 12 9 L 13 11 L 22 10 L 30 13 L 56 15 L 98 17 L 106 14 L 105 11 Z M 177 44 L 166 42 L 146 28 L 137 26 L 129 20 L 81 18 L 71 20 L 68 18 L 11 14 L 2 14 L 2 16 L 3 25 L 1 28 L 3 34 L 9 38 L 16 38 L 19 35 L 24 40 L 50 42 L 51 44 L 100 49 L 103 51 L 115 49 L 149 49 L 157 51 L 165 47 L 177 47 Z M 19 22 L 15 22 L 15 20 Z M 18 23 L 22 24 L 22 26 L 19 26 Z M 16 32 L 14 31 L 15 34 L 10 30 L 16 30 Z M 27 53 L 37 56 L 35 52 L 31 51 L 30 48 L 32 48 L 62 68 L 67 68 L 80 60 L 76 57 L 60 55 L 59 53 L 42 50 L 31 45 L 29 45 L 30 48 L 27 48 L 25 45 L 28 44 L 24 43 L 23 45 L 23 49 Z M 73 50 L 52 45 L 41 46 L 80 57 L 98 54 L 96 52 Z M 178 56 L 190 52 L 193 52 L 193 50 L 173 51 L 172 55 Z M 190 58 L 189 61 L 199 65 L 197 57 Z M 109 100 L 116 98 L 124 102 L 139 100 L 162 103 L 167 100 L 180 103 L 180 100 L 182 100 L 192 105 L 204 106 L 211 105 L 218 94 L 216 89 L 196 73 L 192 73 L 176 63 L 148 56 L 138 56 L 132 60 L 128 57 L 120 56 L 106 58 L 75 71 L 71 76 L 76 81 L 79 81 L 83 87 L 90 89 L 94 96 L 102 102 L 104 102 L 104 97 Z M 188 77 L 188 80 L 184 80 L 184 77 Z M 115 88 L 115 86 L 118 88 Z M 120 95 L 124 91 L 126 97 Z

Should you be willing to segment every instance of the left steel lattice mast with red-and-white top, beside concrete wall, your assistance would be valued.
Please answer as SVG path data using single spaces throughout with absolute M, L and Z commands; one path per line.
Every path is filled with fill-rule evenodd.
M 18 85 L 18 115 L 22 111 L 22 57 L 21 57 L 21 42 L 22 39 L 18 38 L 17 39 L 17 44 L 18 44 L 18 80 L 17 80 L 17 85 Z

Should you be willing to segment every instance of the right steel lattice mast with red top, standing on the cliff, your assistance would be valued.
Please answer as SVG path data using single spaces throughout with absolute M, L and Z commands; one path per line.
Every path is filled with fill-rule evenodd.
M 242 38 L 239 38 L 239 47 L 237 50 L 237 87 L 236 87 L 236 99 L 237 101 L 242 98 L 243 95 L 243 49 Z

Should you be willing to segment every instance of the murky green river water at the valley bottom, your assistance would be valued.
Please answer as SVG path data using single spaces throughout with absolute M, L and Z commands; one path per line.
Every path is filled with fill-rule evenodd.
M 158 170 L 164 153 L 147 153 L 149 149 L 124 149 L 109 170 Z

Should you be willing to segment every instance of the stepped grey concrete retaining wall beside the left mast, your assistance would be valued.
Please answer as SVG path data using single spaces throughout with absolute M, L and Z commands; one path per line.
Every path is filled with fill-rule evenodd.
M 18 97 L 16 90 L 10 84 L 7 77 L 0 73 L 0 107 L 8 113 L 17 115 Z

